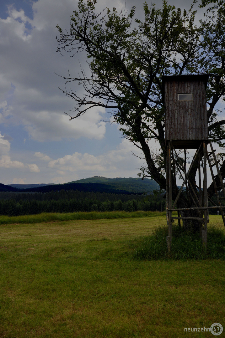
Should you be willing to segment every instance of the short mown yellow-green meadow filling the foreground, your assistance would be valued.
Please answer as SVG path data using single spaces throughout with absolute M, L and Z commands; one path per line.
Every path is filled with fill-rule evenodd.
M 1 225 L 0 337 L 213 337 L 184 328 L 225 327 L 225 263 L 133 259 L 159 224 L 165 216 Z

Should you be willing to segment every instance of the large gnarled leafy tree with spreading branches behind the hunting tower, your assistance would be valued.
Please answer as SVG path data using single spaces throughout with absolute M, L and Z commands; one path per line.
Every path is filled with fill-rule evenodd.
M 225 94 L 224 1 L 211 2 L 214 4 L 206 10 L 205 20 L 196 26 L 194 3 L 188 11 L 181 13 L 180 8 L 168 5 L 166 0 L 162 1 L 162 9 L 157 9 L 155 4 L 149 8 L 145 2 L 145 19 L 141 21 L 134 19 L 135 7 L 129 13 L 106 8 L 96 14 L 96 0 L 80 0 L 79 12 L 74 11 L 71 17 L 70 30 L 64 32 L 57 26 L 60 33 L 58 51 L 67 51 L 72 56 L 83 51 L 89 66 L 90 75 L 81 69 L 77 77 L 70 74 L 64 77 L 66 83 L 75 81 L 82 85 L 85 92 L 79 97 L 71 89 L 63 91 L 76 102 L 72 110 L 75 115 L 69 115 L 70 120 L 95 106 L 106 108 L 111 118 L 120 124 L 123 136 L 144 154 L 146 166 L 141 168 L 139 175 L 151 177 L 164 190 L 166 150 L 162 75 L 211 75 L 207 88 L 209 132 L 213 142 L 225 147 L 225 120 L 218 121 L 218 112 L 214 111 L 216 103 L 220 98 L 224 99 Z M 210 1 L 204 0 L 200 7 L 208 4 Z M 158 153 L 150 150 L 150 139 L 158 142 Z M 225 158 L 222 153 L 220 156 L 224 178 Z M 193 183 L 196 172 L 197 168 L 193 167 Z M 172 185 L 175 193 L 175 180 Z M 208 193 L 213 195 L 212 186 Z M 190 206 L 181 194 L 178 207 Z

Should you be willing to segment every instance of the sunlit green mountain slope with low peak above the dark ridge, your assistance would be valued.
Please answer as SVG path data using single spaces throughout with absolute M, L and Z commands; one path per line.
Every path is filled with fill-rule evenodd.
M 77 181 L 72 181 L 69 183 L 98 183 L 110 186 L 114 189 L 126 190 L 128 192 L 141 193 L 147 191 L 153 191 L 159 189 L 159 185 L 149 178 L 141 179 L 136 177 L 129 178 L 108 178 L 101 176 L 94 176 L 90 178 L 79 179 Z

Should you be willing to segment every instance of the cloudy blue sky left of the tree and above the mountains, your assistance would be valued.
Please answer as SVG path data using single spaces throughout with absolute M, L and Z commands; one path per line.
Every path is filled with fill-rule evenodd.
M 188 5 L 184 0 L 169 3 Z M 126 9 L 132 5 L 140 18 L 142 1 L 126 0 Z M 125 1 L 99 0 L 97 11 L 106 6 L 124 8 Z M 144 164 L 119 126 L 103 121 L 108 119 L 103 108 L 72 121 L 63 113 L 74 102 L 59 90 L 64 80 L 55 73 L 66 75 L 69 69 L 75 75 L 82 55 L 56 52 L 56 25 L 69 29 L 76 9 L 76 0 L 0 1 L 0 183 L 138 177 Z

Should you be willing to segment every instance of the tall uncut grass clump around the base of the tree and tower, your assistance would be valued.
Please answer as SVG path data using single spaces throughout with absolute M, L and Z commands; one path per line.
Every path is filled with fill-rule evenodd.
M 207 248 L 202 246 L 200 235 L 187 232 L 182 226 L 172 225 L 172 245 L 168 255 L 166 246 L 167 226 L 159 226 L 153 232 L 142 237 L 133 258 L 150 259 L 225 259 L 225 232 L 217 225 L 208 227 Z

